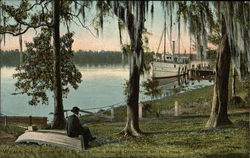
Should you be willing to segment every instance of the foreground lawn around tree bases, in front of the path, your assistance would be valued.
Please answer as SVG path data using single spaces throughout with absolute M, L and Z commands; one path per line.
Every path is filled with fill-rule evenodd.
M 0 146 L 0 157 L 248 157 L 249 115 L 233 115 L 232 126 L 204 130 L 208 118 L 141 121 L 147 136 L 117 135 L 125 122 L 88 124 L 98 143 L 85 152 L 68 149 L 22 145 Z

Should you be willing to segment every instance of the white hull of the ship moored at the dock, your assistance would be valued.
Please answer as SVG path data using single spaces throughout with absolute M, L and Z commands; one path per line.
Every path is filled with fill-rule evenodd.
M 185 75 L 187 64 L 154 61 L 151 63 L 151 77 L 153 79 L 171 79 Z

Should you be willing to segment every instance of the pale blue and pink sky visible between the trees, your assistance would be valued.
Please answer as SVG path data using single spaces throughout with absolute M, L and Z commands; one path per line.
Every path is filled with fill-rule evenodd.
M 11 0 L 6 0 L 7 3 Z M 16 0 L 17 1 L 17 0 Z M 11 3 L 15 3 L 15 1 L 11 1 Z M 157 50 L 157 47 L 160 43 L 160 38 L 162 31 L 164 29 L 164 14 L 161 7 L 160 2 L 155 1 L 154 3 L 154 17 L 153 21 L 151 22 L 151 15 L 148 14 L 148 18 L 145 23 L 145 27 L 147 30 L 151 33 L 149 36 L 149 48 L 151 51 Z M 88 19 L 92 19 L 95 16 L 95 9 L 88 10 L 86 12 L 86 25 L 89 27 L 89 29 L 95 34 L 94 28 L 91 26 L 91 21 Z M 173 18 L 175 19 L 175 17 Z M 168 24 L 167 24 L 168 27 Z M 99 37 L 94 37 L 89 30 L 81 27 L 79 24 L 75 24 L 74 22 L 71 23 L 70 26 L 71 31 L 75 32 L 74 35 L 74 43 L 73 43 L 73 50 L 92 50 L 92 51 L 100 51 L 100 50 L 106 50 L 106 51 L 120 51 L 121 46 L 119 42 L 119 30 L 118 30 L 118 24 L 117 24 L 117 18 L 115 16 L 109 16 L 104 19 L 104 29 L 103 29 L 103 35 L 100 35 Z M 173 39 L 176 41 L 176 51 L 177 51 L 177 24 L 173 25 Z M 185 50 L 187 53 L 189 53 L 190 50 L 190 41 L 187 29 L 184 29 L 184 23 L 181 23 L 181 41 L 180 41 L 180 49 L 181 53 L 184 53 Z M 61 35 L 63 35 L 66 31 L 66 27 L 61 24 Z M 167 33 L 167 52 L 169 52 L 169 37 Z M 128 43 L 129 38 L 126 33 L 123 34 L 123 42 Z M 26 34 L 23 35 L 23 42 L 31 42 L 32 38 L 36 36 L 36 31 L 29 30 Z M 4 46 L 2 46 L 3 50 L 11 50 L 11 49 L 19 49 L 19 37 L 13 37 L 11 35 L 6 36 L 6 43 Z M 25 48 L 25 44 L 24 44 Z M 163 43 L 161 43 L 161 47 L 159 49 L 159 52 L 163 52 Z

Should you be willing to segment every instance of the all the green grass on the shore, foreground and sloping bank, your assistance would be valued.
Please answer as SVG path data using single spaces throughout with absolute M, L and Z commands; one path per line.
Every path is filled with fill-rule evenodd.
M 212 100 L 213 87 L 205 87 L 188 93 L 177 94 L 161 100 L 144 103 L 140 128 L 146 136 L 122 137 L 119 133 L 125 126 L 126 107 L 115 109 L 118 122 L 96 122 L 87 124 L 98 142 L 91 143 L 85 152 L 75 152 L 64 148 L 36 145 L 0 145 L 0 158 L 56 158 L 56 157 L 195 157 L 195 158 L 241 158 L 249 157 L 249 113 L 230 115 L 232 126 L 204 130 Z M 240 91 L 244 93 L 244 90 Z M 178 101 L 183 109 L 182 116 L 173 117 L 171 111 Z M 249 105 L 243 107 L 248 108 Z M 191 109 L 191 110 L 187 110 Z M 229 105 L 229 111 L 239 110 Z M 198 117 L 190 117 L 198 116 Z M 203 117 L 199 117 L 203 116 Z M 154 119 L 157 118 L 158 119 Z M 102 119 L 103 120 L 103 119 Z M 24 129 L 9 126 L 4 129 L 19 136 Z

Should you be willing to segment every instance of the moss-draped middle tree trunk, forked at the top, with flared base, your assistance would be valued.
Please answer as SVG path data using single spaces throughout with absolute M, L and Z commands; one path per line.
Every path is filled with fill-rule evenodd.
M 128 29 L 130 45 L 131 45 L 131 63 L 130 63 L 130 76 L 129 76 L 129 94 L 127 99 L 127 123 L 121 134 L 129 136 L 140 136 L 141 130 L 139 128 L 139 89 L 140 89 L 140 72 L 143 65 L 143 42 L 142 33 L 145 22 L 145 2 L 137 2 L 138 12 L 137 15 L 129 13 L 125 15 L 125 9 L 120 8 L 120 19 L 123 20 Z M 127 22 L 123 16 L 127 16 Z

